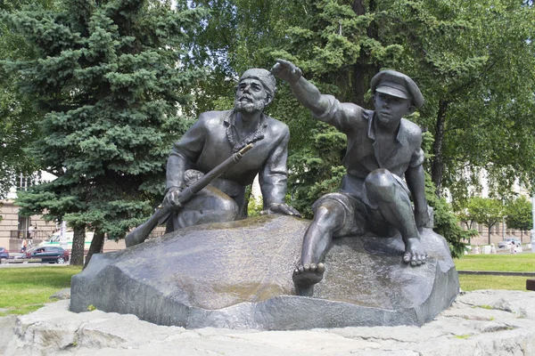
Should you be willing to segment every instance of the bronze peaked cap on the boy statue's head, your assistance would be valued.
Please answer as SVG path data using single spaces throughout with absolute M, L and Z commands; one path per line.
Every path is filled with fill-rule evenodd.
M 372 93 L 385 93 L 397 98 L 408 99 L 416 108 L 424 105 L 424 96 L 418 85 L 403 73 L 384 70 L 372 78 Z

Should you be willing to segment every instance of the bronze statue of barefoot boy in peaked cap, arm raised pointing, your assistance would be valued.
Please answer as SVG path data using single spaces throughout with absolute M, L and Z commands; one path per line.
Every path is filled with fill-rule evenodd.
M 289 83 L 297 100 L 314 117 L 348 138 L 341 189 L 313 205 L 314 220 L 305 233 L 300 263 L 293 271 L 296 292 L 310 295 L 311 287 L 323 279 L 323 259 L 333 237 L 368 231 L 393 237 L 399 231 L 405 243 L 403 261 L 412 266 L 425 263 L 420 242 L 427 220 L 422 131 L 403 118 L 424 104 L 415 82 L 393 70 L 378 73 L 371 81 L 375 109 L 366 110 L 319 93 L 290 61 L 277 60 L 271 72 Z

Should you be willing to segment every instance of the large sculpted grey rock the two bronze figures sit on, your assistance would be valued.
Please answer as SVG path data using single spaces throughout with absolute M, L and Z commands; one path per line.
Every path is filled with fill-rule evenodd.
M 71 282 L 70 309 L 89 305 L 185 328 L 303 329 L 422 325 L 449 307 L 457 271 L 425 229 L 428 263 L 402 263 L 400 238 L 334 239 L 313 297 L 293 295 L 309 221 L 268 215 L 175 231 L 95 255 Z

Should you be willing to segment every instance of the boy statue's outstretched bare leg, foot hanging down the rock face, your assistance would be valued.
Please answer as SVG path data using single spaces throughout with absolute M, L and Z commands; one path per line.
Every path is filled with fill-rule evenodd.
M 333 231 L 343 222 L 343 207 L 336 201 L 325 201 L 314 214 L 314 221 L 303 239 L 301 262 L 293 271 L 293 283 L 298 295 L 311 295 L 312 288 L 323 279 L 324 263 L 320 261 L 333 240 Z

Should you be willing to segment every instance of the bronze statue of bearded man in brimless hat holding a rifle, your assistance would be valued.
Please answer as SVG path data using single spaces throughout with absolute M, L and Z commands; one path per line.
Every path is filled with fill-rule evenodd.
M 236 86 L 235 109 L 202 113 L 174 144 L 167 163 L 167 188 L 160 211 L 127 236 L 128 247 L 147 238 L 157 223 L 166 232 L 201 223 L 222 223 L 246 217 L 245 188 L 259 174 L 264 214 L 300 216 L 284 203 L 288 126 L 264 114 L 273 101 L 276 78 L 266 69 L 248 69 Z M 254 149 L 251 149 L 254 143 Z M 210 185 L 184 200 L 183 191 L 203 174 L 218 171 L 226 160 L 247 148 L 246 158 L 225 167 Z M 225 166 L 225 165 L 223 165 Z

